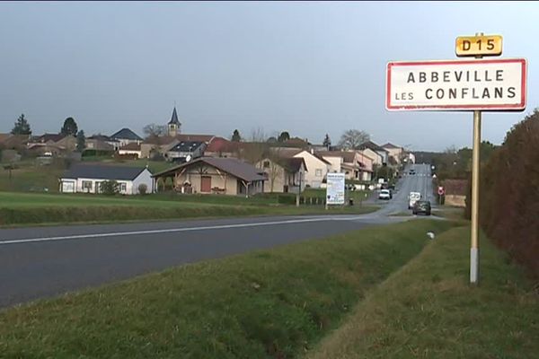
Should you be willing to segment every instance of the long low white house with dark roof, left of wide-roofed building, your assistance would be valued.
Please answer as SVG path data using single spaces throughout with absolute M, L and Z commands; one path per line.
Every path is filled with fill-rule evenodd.
M 105 180 L 116 180 L 123 195 L 137 195 L 143 183 L 147 193 L 154 192 L 152 172 L 146 167 L 103 164 L 74 164 L 60 178 L 60 192 L 100 193 L 101 182 Z

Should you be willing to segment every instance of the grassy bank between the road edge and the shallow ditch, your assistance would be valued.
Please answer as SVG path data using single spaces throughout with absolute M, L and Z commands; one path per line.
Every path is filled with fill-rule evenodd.
M 337 328 L 369 290 L 420 253 L 425 232 L 451 226 L 416 221 L 373 227 L 0 311 L 0 354 L 301 356 Z

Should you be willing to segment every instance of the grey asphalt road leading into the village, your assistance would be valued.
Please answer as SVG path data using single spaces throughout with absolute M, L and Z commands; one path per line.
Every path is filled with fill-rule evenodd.
M 0 230 L 0 307 L 103 285 L 167 267 L 406 220 L 408 194 L 429 197 L 430 171 L 414 165 L 390 201 L 368 215 L 234 218 Z

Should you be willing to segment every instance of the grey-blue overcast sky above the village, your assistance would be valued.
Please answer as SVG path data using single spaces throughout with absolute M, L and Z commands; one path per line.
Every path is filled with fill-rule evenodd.
M 455 37 L 501 34 L 528 59 L 525 112 L 485 113 L 483 139 L 539 106 L 539 3 L 0 3 L 0 132 L 74 117 L 86 136 L 165 124 L 230 137 L 261 129 L 333 143 L 442 151 L 472 143 L 472 113 L 387 112 L 385 66 L 455 58 Z

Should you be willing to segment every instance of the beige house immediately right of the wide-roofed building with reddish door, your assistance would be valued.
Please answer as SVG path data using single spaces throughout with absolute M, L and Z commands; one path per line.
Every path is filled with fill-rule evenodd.
M 303 158 L 264 158 L 256 165 L 268 180 L 264 192 L 299 193 L 305 189 L 305 160 Z

